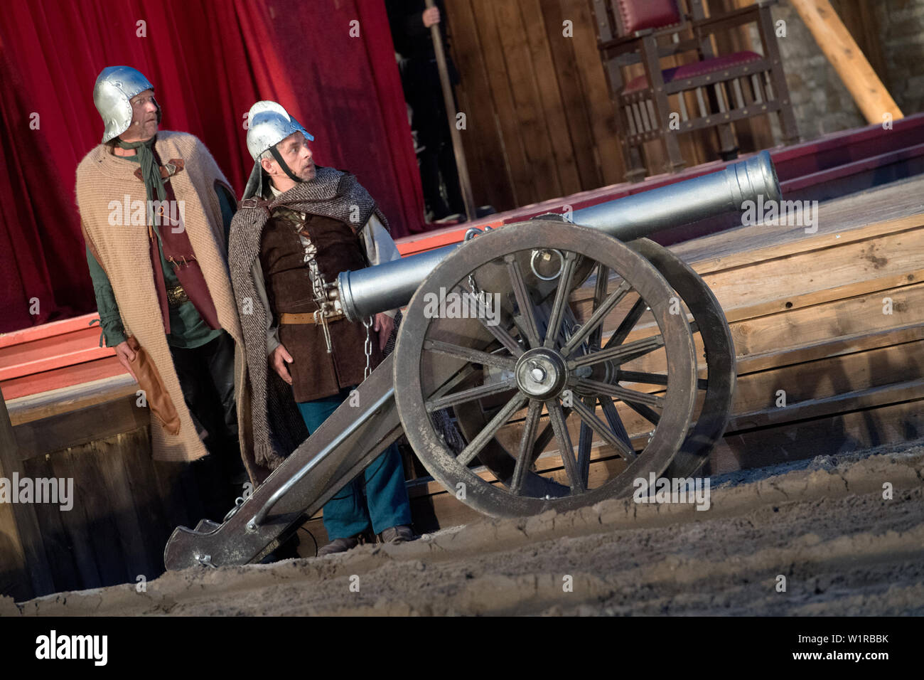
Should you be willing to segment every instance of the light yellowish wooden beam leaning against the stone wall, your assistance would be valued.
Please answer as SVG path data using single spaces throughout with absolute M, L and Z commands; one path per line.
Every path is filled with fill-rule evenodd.
M 837 75 L 857 102 L 870 125 L 882 123 L 883 114 L 893 120 L 905 117 L 892 95 L 882 85 L 876 71 L 869 66 L 857 41 L 847 31 L 829 0 L 792 0 L 793 6 L 808 30 L 815 36 L 824 56 L 828 57 Z

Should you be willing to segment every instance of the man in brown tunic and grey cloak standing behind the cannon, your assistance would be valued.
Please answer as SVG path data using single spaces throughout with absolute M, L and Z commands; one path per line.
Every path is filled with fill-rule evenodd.
M 252 388 L 254 455 L 270 467 L 303 440 L 293 436 L 292 419 L 300 417 L 309 433 L 320 427 L 381 363 L 394 328 L 394 311 L 364 328 L 325 302 L 325 281 L 341 271 L 401 255 L 357 179 L 314 165 L 313 140 L 281 105 L 250 108 L 253 171 L 228 237 Z M 413 538 L 394 444 L 324 505 L 323 521 L 331 543 L 319 555 L 355 547 L 370 528 L 384 542 Z

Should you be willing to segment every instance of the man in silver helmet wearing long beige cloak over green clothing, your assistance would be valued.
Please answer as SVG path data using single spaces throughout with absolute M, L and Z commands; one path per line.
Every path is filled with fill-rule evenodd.
M 103 335 L 151 407 L 153 458 L 204 459 L 194 470 L 220 520 L 247 480 L 225 247 L 234 192 L 196 137 L 159 130 L 136 69 L 103 68 L 93 102 L 103 143 L 77 168 L 77 201 Z

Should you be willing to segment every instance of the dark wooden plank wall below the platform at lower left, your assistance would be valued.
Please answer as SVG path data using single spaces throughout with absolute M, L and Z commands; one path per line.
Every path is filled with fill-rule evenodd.
M 0 504 L 0 594 L 27 600 L 163 574 L 167 538 L 204 516 L 205 491 L 195 464 L 152 461 L 150 415 L 134 394 L 7 434 L 5 416 L 0 409 L 0 476 L 73 479 L 73 507 Z

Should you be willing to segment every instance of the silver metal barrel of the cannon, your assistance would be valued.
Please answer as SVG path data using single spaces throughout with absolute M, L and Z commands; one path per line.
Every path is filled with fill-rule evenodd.
M 742 210 L 746 201 L 756 202 L 759 195 L 765 201 L 781 197 L 776 170 L 766 151 L 718 172 L 581 208 L 574 211 L 572 221 L 621 241 L 632 241 L 704 217 Z M 342 272 L 337 277 L 337 289 L 346 317 L 357 321 L 403 307 L 433 268 L 460 245 Z

